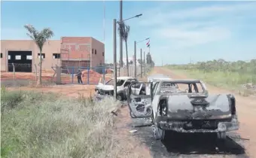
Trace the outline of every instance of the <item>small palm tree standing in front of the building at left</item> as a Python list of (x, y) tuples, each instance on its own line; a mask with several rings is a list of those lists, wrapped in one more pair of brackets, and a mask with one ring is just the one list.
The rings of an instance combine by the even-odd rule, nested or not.
[(44, 47), (44, 43), (53, 37), (53, 31), (50, 28), (44, 28), (43, 30), (41, 30), (41, 32), (38, 32), (38, 30), (35, 29), (34, 26), (32, 25), (26, 25), (24, 26), (25, 29), (28, 31), (27, 35), (32, 38), (33, 41), (35, 41), (35, 44), (38, 46), (39, 50), (40, 50), (40, 71), (39, 71), (39, 78), (38, 78), (38, 84), (41, 85), (41, 62), (42, 62), (42, 50)]

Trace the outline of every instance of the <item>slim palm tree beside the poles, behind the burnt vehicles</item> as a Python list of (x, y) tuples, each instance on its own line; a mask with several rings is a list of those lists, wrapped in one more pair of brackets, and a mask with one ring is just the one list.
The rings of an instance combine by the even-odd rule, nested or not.
[[(129, 61), (128, 61), (128, 47), (127, 47), (127, 40), (130, 33), (130, 26), (127, 26), (125, 23), (119, 23), (119, 34), (123, 41), (125, 41), (126, 47), (126, 68), (127, 68), (127, 75), (129, 76)], [(123, 61), (122, 61), (123, 62)]]

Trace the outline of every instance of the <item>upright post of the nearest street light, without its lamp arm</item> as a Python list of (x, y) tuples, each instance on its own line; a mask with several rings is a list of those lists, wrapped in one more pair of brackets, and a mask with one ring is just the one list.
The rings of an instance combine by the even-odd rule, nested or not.
[(114, 99), (117, 99), (117, 20), (113, 20), (114, 43)]

